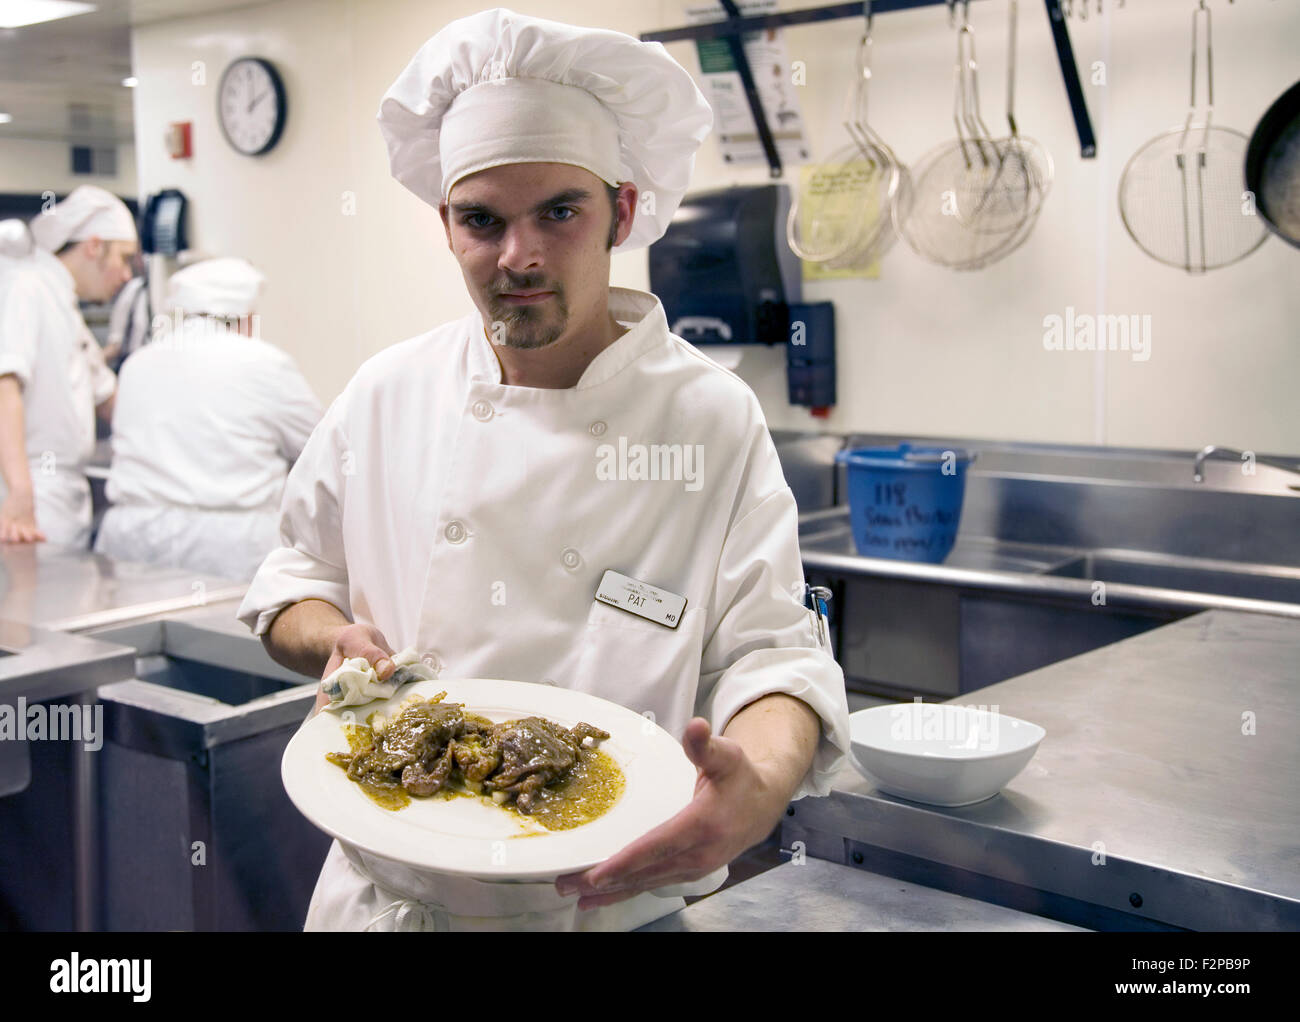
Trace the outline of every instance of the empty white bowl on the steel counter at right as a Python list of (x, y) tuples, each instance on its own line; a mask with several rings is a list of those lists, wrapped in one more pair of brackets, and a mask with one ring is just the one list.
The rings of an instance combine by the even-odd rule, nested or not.
[(939, 702), (872, 706), (849, 715), (858, 771), (880, 791), (935, 806), (997, 794), (1046, 731), (993, 707)]

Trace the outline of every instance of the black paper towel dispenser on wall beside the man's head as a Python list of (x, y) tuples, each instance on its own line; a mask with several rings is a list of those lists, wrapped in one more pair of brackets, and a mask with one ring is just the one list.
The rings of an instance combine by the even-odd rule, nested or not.
[(755, 185), (688, 195), (650, 246), (650, 290), (668, 329), (692, 343), (785, 342), (802, 299), (798, 257), (785, 243), (790, 194)]

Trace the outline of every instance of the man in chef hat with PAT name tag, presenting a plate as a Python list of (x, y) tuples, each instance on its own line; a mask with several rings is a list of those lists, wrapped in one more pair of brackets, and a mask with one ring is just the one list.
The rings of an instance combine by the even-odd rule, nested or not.
[[(612, 700), (699, 778), (677, 817), (554, 885), (476, 888), (335, 841), (307, 928), (630, 928), (828, 789), (844, 676), (758, 400), (654, 295), (608, 286), (611, 250), (666, 230), (711, 125), (658, 43), (502, 9), (448, 25), (384, 98), (393, 173), (439, 208), (478, 311), (360, 368), (239, 618), (304, 674), (365, 657), (386, 677), (416, 646), (443, 677)], [(611, 568), (685, 597), (677, 628), (595, 602)]]

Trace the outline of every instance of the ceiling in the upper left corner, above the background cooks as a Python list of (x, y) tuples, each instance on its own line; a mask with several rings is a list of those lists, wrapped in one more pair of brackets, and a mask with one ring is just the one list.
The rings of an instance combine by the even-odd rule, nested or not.
[(213, 10), (259, 7), (265, 0), (98, 0), (73, 18), (0, 29), (0, 125), (6, 138), (78, 144), (133, 140), (131, 26)]

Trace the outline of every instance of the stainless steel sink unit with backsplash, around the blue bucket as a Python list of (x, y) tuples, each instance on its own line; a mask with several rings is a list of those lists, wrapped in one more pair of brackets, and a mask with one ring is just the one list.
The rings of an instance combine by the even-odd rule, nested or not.
[[(835, 596), (853, 692), (952, 697), (1214, 607), (1300, 619), (1300, 491), (1265, 455), (1251, 475), (1240, 459), (1206, 460), (1196, 482), (1195, 451), (774, 439), (800, 504), (803, 573)], [(858, 554), (837, 442), (978, 451), (942, 564)]]

